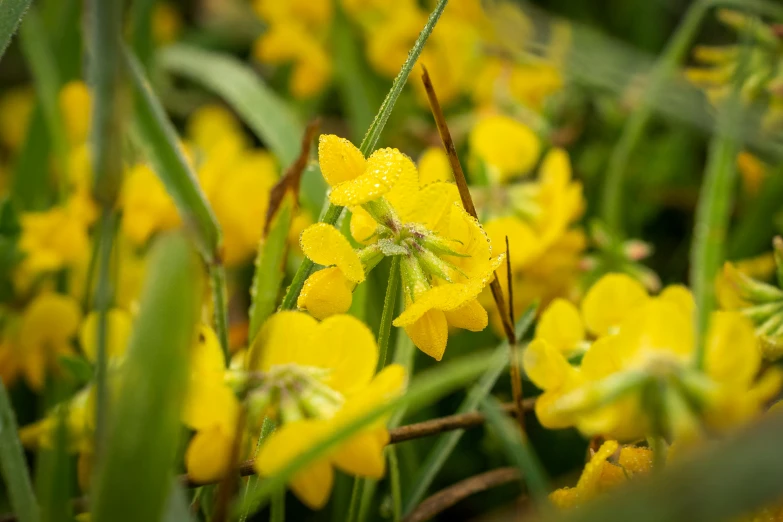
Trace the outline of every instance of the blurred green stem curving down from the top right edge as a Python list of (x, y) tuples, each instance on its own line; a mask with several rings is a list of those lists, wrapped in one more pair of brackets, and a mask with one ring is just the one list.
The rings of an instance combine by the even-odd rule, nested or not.
[(631, 154), (650, 120), (655, 99), (661, 94), (677, 64), (688, 52), (709, 5), (709, 0), (697, 1), (688, 9), (685, 18), (655, 65), (639, 105), (629, 116), (620, 139), (612, 150), (603, 187), (602, 216), (609, 230), (614, 234), (622, 234), (623, 181)]

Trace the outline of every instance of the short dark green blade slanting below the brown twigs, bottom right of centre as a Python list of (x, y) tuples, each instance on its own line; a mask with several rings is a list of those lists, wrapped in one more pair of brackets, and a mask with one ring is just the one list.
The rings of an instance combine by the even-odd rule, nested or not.
[(549, 503), (549, 479), (527, 437), (519, 429), (519, 424), (503, 413), (497, 399), (493, 397), (485, 398), (481, 409), (487, 416), (487, 423), (500, 438), (509, 460), (519, 469), (520, 476), (525, 478), (530, 494), (539, 507), (543, 508)]

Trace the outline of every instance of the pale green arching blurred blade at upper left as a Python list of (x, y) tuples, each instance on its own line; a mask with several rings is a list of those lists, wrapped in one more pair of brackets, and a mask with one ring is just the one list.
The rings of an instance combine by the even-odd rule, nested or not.
[(166, 70), (220, 95), (283, 165), (297, 158), (304, 125), (247, 65), (186, 44), (162, 49), (158, 59)]

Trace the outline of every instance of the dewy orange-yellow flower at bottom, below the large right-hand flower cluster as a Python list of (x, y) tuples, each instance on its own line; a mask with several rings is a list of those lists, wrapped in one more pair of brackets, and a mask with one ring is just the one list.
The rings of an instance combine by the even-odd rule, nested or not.
[[(611, 462), (616, 457), (617, 464)], [(585, 465), (579, 482), (573, 488), (560, 488), (549, 495), (549, 500), (560, 509), (572, 509), (593, 500), (638, 474), (652, 469), (652, 451), (648, 448), (623, 446), (617, 441), (604, 442)]]

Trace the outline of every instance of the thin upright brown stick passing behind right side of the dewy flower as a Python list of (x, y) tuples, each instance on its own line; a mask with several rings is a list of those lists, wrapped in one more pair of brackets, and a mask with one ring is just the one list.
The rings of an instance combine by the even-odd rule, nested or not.
[[(451, 164), (451, 170), (454, 173), (454, 181), (457, 183), (457, 189), (459, 190), (459, 197), (462, 200), (462, 206), (465, 207), (465, 210), (468, 212), (468, 214), (478, 220), (478, 213), (476, 212), (476, 207), (473, 204), (473, 198), (471, 197), (470, 190), (468, 189), (468, 181), (465, 178), (465, 172), (462, 170), (462, 165), (459, 162), (457, 149), (454, 146), (454, 140), (451, 139), (451, 132), (449, 132), (449, 127), (446, 124), (446, 117), (443, 115), (443, 109), (440, 107), (440, 102), (438, 101), (438, 96), (435, 94), (435, 88), (432, 86), (432, 80), (430, 79), (430, 75), (427, 72), (427, 68), (422, 65), (421, 69), (421, 81), (424, 83), (424, 90), (427, 92), (427, 99), (430, 102), (430, 110), (432, 111), (433, 118), (435, 118), (435, 125), (438, 127), (438, 133), (440, 134), (440, 139), (443, 142), (443, 148), (446, 149), (446, 155), (449, 158), (449, 164)], [(508, 238), (506, 238), (506, 255), (508, 255)], [(509, 263), (508, 259), (506, 260), (506, 263)], [(508, 277), (510, 301), (512, 295), (510, 264), (507, 264), (507, 267), (509, 268)], [(498, 313), (500, 314), (500, 321), (503, 324), (503, 331), (506, 334), (506, 339), (508, 339), (511, 392), (514, 396), (514, 403), (516, 403), (518, 407), (517, 419), (519, 421), (519, 429), (524, 433), (525, 424), (524, 415), (522, 415), (522, 412), (524, 411), (522, 408), (522, 376), (520, 375), (519, 364), (517, 361), (517, 336), (516, 332), (514, 331), (514, 317), (512, 315), (513, 312), (510, 312), (511, 306), (513, 305), (506, 307), (506, 301), (503, 298), (503, 289), (500, 287), (500, 279), (498, 278), (497, 271), (495, 271), (495, 277), (489, 284), (489, 289), (492, 291), (492, 298), (495, 300), (495, 305), (497, 306)]]

